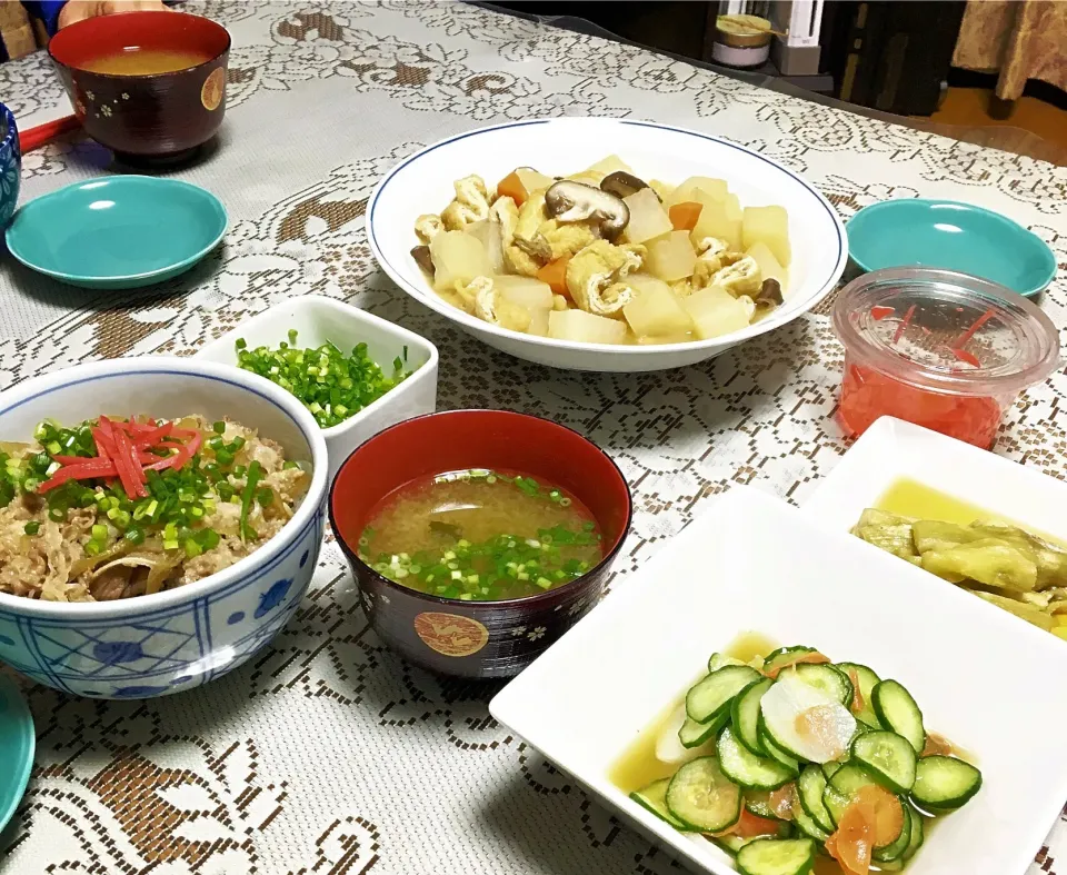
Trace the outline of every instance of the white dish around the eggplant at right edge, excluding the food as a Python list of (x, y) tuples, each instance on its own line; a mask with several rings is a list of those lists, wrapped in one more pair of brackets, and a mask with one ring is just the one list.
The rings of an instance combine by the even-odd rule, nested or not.
[[(874, 507), (901, 478), (1067, 540), (1067, 484), (889, 416), (868, 428), (819, 481), (804, 503), (804, 515), (825, 528), (849, 531), (864, 509)], [(929, 575), (927, 579), (935, 578)], [(986, 607), (1000, 610), (994, 605)]]

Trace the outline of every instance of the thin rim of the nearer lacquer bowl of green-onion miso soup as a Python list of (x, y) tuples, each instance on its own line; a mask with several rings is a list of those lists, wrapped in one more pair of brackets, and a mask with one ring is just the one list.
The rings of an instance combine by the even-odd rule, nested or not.
[[(350, 563), (352, 563), (353, 566), (359, 565), (360, 568), (365, 568), (369, 575), (377, 578), (378, 581), (381, 583), (387, 588), (399, 590), (400, 593), (405, 593), (407, 595), (413, 596), (417, 599), (426, 599), (431, 604), (441, 605), (441, 606), (463, 605), (467, 608), (470, 608), (470, 606), (473, 605), (475, 610), (479, 608), (485, 610), (490, 610), (490, 609), (496, 609), (500, 607), (513, 608), (520, 605), (537, 605), (537, 604), (540, 604), (541, 601), (550, 601), (554, 598), (558, 597), (559, 594), (565, 589), (580, 586), (582, 583), (588, 583), (589, 578), (592, 577), (592, 575), (602, 573), (612, 561), (615, 561), (615, 558), (619, 555), (619, 551), (622, 549), (622, 545), (626, 543), (626, 538), (630, 534), (630, 527), (634, 524), (634, 490), (630, 489), (630, 481), (626, 479), (626, 475), (622, 474), (622, 469), (618, 466), (616, 460), (612, 459), (601, 447), (598, 447), (585, 435), (582, 435), (579, 431), (576, 431), (574, 428), (570, 428), (570, 426), (565, 426), (552, 419), (546, 419), (542, 416), (534, 416), (531, 414), (520, 414), (518, 410), (491, 410), (486, 407), (465, 407), (460, 410), (435, 410), (432, 414), (422, 414), (421, 416), (415, 416), (411, 419), (405, 419), (402, 422), (396, 422), (389, 426), (389, 428), (382, 429), (373, 437), (368, 438), (365, 441), (365, 444), (368, 444), (371, 440), (377, 440), (378, 438), (383, 437), (385, 435), (388, 435), (390, 431), (397, 428), (400, 428), (400, 426), (405, 426), (408, 422), (415, 422), (419, 419), (429, 419), (430, 417), (436, 417), (436, 416), (455, 416), (456, 414), (507, 414), (508, 416), (520, 416), (527, 419), (540, 419), (545, 422), (549, 422), (554, 426), (557, 426), (558, 428), (564, 428), (567, 431), (570, 431), (571, 434), (576, 435), (581, 440), (584, 440), (586, 444), (588, 444), (590, 447), (592, 447), (595, 450), (597, 450), (597, 453), (604, 456), (604, 458), (608, 460), (608, 464), (611, 465), (612, 468), (615, 468), (615, 473), (619, 475), (619, 479), (622, 481), (622, 486), (626, 489), (626, 524), (622, 526), (622, 533), (619, 535), (618, 544), (616, 544), (615, 548), (611, 549), (610, 553), (608, 553), (602, 559), (600, 559), (600, 561), (598, 561), (595, 566), (592, 566), (592, 568), (586, 571), (581, 577), (576, 577), (574, 580), (568, 580), (566, 584), (564, 584), (562, 586), (556, 587), (555, 589), (546, 589), (544, 593), (536, 593), (531, 596), (518, 596), (517, 598), (499, 598), (492, 601), (472, 601), (472, 600), (465, 601), (461, 598), (446, 598), (445, 596), (436, 596), (432, 593), (423, 593), (421, 589), (413, 589), (409, 586), (403, 586), (402, 584), (398, 584), (396, 580), (390, 580), (383, 574), (376, 571), (367, 563), (360, 559), (358, 551), (353, 550), (349, 546), (348, 540), (341, 534), (341, 529), (338, 528), (337, 521), (333, 519), (333, 493), (337, 489), (337, 483), (340, 479), (341, 471), (352, 460), (352, 456), (355, 456), (357, 453), (359, 453), (360, 449), (362, 449), (362, 445), (361, 445), (359, 447), (356, 447), (356, 449), (353, 449), (351, 453), (348, 454), (348, 456), (345, 457), (345, 461), (342, 461), (338, 467), (337, 476), (333, 478), (333, 481), (330, 484), (330, 488), (326, 496), (326, 510), (330, 517), (330, 529), (333, 531), (333, 537), (337, 538), (337, 543), (341, 548), (341, 553), (345, 554), (345, 556), (348, 558)], [(355, 571), (353, 571), (353, 576), (355, 576)], [(359, 584), (358, 577), (356, 578), (356, 583), (357, 585)]]

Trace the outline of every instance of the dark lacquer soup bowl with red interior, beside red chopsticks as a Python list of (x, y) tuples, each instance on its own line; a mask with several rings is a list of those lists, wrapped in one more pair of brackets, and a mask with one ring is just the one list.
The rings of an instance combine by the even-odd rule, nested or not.
[[(153, 74), (86, 69), (138, 51), (167, 52), (188, 66)], [(86, 132), (120, 156), (177, 160), (222, 123), (230, 34), (209, 19), (167, 11), (97, 16), (59, 31), (48, 52)]]

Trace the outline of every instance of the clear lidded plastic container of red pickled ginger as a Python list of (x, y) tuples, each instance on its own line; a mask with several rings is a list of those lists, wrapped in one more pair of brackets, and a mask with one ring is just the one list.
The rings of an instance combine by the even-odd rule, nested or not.
[(1035, 304), (950, 270), (852, 280), (834, 330), (845, 345), (838, 417), (852, 435), (895, 416), (989, 448), (1004, 411), (1059, 365), (1059, 334)]

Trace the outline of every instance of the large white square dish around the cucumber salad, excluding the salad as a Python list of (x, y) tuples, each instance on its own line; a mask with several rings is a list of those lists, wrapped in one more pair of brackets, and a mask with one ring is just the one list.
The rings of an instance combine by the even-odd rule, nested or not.
[(1067, 647), (988, 607), (735, 487), (489, 709), (675, 856), (727, 875), (727, 854), (634, 803), (609, 769), (739, 634), (815, 646), (898, 679), (928, 727), (974, 752), (981, 768), (979, 794), (930, 831), (907, 872), (1023, 873), (1067, 798), (1059, 736), (1039, 729), (1067, 719), (1067, 697), (1050, 692), (1067, 672)]

